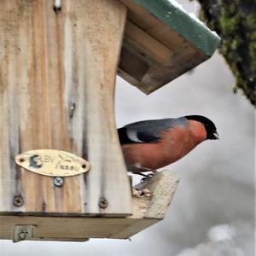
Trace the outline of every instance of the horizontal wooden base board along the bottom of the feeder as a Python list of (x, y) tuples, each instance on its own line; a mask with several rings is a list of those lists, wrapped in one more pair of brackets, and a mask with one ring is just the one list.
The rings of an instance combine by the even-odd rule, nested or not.
[[(81, 240), (84, 238), (129, 238), (158, 220), (133, 218), (71, 218), (0, 216), (1, 239), (13, 239), (15, 225), (35, 225), (35, 240)], [(131, 230), (124, 229), (132, 227)], [(115, 236), (117, 234), (117, 236)], [(32, 240), (33, 240), (32, 239)]]

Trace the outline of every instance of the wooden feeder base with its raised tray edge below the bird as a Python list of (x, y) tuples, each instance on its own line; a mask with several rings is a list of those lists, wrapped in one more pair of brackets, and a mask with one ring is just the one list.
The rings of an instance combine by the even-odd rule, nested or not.
[(9, 216), (0, 215), (0, 239), (12, 239), (15, 225), (34, 225), (32, 240), (84, 241), (86, 238), (126, 239), (162, 220), (172, 202), (179, 178), (164, 171), (140, 185), (150, 197), (132, 198), (132, 215), (126, 218), (82, 216)]

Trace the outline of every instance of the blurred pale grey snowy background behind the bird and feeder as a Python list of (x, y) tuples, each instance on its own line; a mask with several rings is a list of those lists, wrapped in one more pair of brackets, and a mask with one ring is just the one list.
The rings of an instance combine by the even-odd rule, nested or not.
[[(197, 3), (178, 1), (188, 12)], [(117, 125), (142, 119), (202, 114), (218, 127), (219, 141), (195, 148), (170, 169), (181, 183), (166, 218), (131, 241), (0, 241), (1, 256), (253, 256), (254, 113), (223, 58), (215, 54), (192, 73), (150, 96), (117, 79)]]

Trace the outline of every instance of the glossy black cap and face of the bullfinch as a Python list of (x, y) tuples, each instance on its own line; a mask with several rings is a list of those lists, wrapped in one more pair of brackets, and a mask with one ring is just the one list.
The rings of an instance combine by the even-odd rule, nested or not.
[(195, 121), (201, 122), (203, 125), (205, 125), (206, 131), (207, 131), (207, 139), (218, 140), (217, 128), (210, 119), (207, 119), (202, 115), (187, 115), (185, 116), (185, 118), (189, 120), (195, 120)]

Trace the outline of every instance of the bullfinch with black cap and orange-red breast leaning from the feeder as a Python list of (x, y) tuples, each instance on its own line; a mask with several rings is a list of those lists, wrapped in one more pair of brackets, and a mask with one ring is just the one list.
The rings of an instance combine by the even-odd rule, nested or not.
[(143, 172), (153, 176), (198, 144), (219, 138), (212, 120), (202, 115), (138, 121), (119, 128), (118, 136), (127, 171), (145, 177)]

